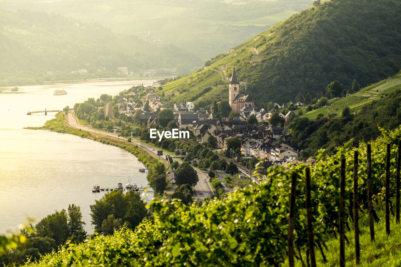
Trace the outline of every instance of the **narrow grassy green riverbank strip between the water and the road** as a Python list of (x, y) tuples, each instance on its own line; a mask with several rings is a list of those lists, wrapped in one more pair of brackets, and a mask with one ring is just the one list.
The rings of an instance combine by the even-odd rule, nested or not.
[(140, 148), (136, 144), (132, 144), (130, 142), (113, 137), (100, 136), (82, 129), (77, 130), (76, 128), (68, 126), (65, 123), (65, 115), (63, 112), (57, 113), (55, 115), (55, 118), (46, 121), (45, 125), (43, 125), (42, 127), (24, 127), (24, 129), (49, 130), (55, 131), (57, 133), (73, 134), (75, 136), (80, 136), (82, 138), (101, 142), (102, 144), (116, 146), (130, 152), (131, 154), (134, 154), (138, 158), (138, 160), (146, 166), (146, 168), (152, 168), (154, 164), (159, 162), (157, 158), (155, 158), (153, 155), (149, 154), (148, 152), (146, 152), (146, 150)]

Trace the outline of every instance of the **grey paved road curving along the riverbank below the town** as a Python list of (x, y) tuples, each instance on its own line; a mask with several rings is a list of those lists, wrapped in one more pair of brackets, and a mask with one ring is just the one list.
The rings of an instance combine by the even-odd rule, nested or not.
[[(109, 103), (109, 104), (111, 104), (111, 103)], [(109, 105), (109, 104), (107, 104), (107, 105)], [(106, 110), (107, 111), (111, 110), (110, 107), (107, 109), (107, 105), (106, 105)], [(123, 137), (118, 136), (117, 134), (108, 133), (108, 132), (105, 132), (105, 131), (99, 131), (99, 130), (93, 129), (93, 128), (87, 126), (87, 125), (79, 124), (77, 118), (74, 116), (74, 109), (70, 109), (68, 111), (68, 115), (67, 115), (67, 119), (66, 119), (65, 123), (67, 125), (71, 126), (71, 127), (76, 128), (76, 129), (89, 131), (89, 132), (93, 133), (96, 136), (96, 138), (99, 138), (99, 136), (104, 136), (104, 137), (113, 138), (113, 139), (117, 139), (117, 140), (124, 140)], [(157, 153), (156, 152), (157, 150), (154, 147), (152, 147), (152, 146), (150, 146), (148, 144), (144, 144), (144, 143), (136, 141), (134, 139), (132, 139), (131, 142), (134, 143), (134, 144), (137, 144), (138, 146), (140, 146), (140, 148), (146, 150), (151, 155), (154, 155), (154, 154)], [(157, 157), (157, 156), (155, 155), (155, 157)], [(162, 157), (159, 157), (159, 158), (163, 163), (167, 162), (165, 156), (162, 156)], [(182, 163), (182, 161), (177, 159), (177, 158), (173, 158), (173, 160)], [(207, 174), (202, 173), (200, 170), (198, 170), (196, 168), (195, 168), (195, 170), (196, 170), (196, 172), (197, 172), (197, 174), (199, 176), (199, 181), (194, 186), (194, 190), (195, 190), (194, 198), (198, 198), (199, 200), (202, 201), (203, 199), (205, 199), (205, 198), (207, 198), (209, 196), (212, 196), (213, 195), (213, 190), (212, 190), (212, 187), (210, 186), (210, 184), (208, 182), (209, 181), (209, 176), (207, 176)]]

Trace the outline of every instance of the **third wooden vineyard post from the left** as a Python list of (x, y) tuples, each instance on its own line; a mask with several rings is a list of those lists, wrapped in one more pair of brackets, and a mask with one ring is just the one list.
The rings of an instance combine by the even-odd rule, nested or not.
[(341, 159), (340, 175), (340, 267), (345, 267), (345, 243), (344, 243), (344, 207), (345, 207), (345, 158)]

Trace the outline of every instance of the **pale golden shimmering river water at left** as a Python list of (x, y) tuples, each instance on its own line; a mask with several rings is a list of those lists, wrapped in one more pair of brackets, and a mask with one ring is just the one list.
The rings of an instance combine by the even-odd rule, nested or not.
[[(104, 192), (93, 194), (93, 185), (116, 187), (128, 180), (147, 186), (143, 164), (134, 155), (114, 146), (70, 134), (22, 129), (42, 126), (55, 113), (26, 115), (29, 111), (73, 107), (103, 93), (117, 95), (132, 86), (154, 80), (97, 81), (19, 87), (24, 93), (0, 93), (0, 233), (16, 229), (33, 218), (33, 224), (69, 204), (81, 207), (85, 230), (93, 233), (89, 205)], [(53, 95), (65, 89), (67, 95)], [(0, 88), (2, 90), (2, 88)]]

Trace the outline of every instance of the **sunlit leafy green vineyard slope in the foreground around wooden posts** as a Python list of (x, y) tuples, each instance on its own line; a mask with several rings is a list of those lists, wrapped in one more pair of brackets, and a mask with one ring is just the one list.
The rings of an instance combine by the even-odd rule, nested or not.
[[(401, 129), (383, 132), (372, 147), (372, 193), (383, 194), (385, 183), (384, 162), (387, 143), (391, 144), (391, 158), (397, 154), (397, 141)], [(347, 144), (334, 156), (322, 153), (311, 167), (312, 227), (316, 242), (317, 266), (338, 265), (338, 207), (340, 162), (346, 160), (345, 195), (347, 201), (353, 191), (354, 148)], [(368, 237), (368, 212), (366, 205), (366, 144), (359, 148), (360, 203), (359, 224), (361, 227), (361, 266), (397, 266), (399, 263), (400, 227), (391, 221), (389, 237), (383, 227), (384, 200), (377, 197), (373, 202), (379, 223), (375, 223), (376, 242)], [(395, 163), (392, 161), (391, 196), (394, 196)], [(296, 220), (294, 246), (297, 263), (306, 259), (306, 208), (305, 208), (305, 168), (293, 166), (291, 171), (284, 166), (271, 168), (267, 172), (269, 182), (260, 186), (245, 187), (221, 199), (205, 200), (201, 205), (186, 206), (182, 202), (155, 200), (148, 208), (154, 220), (144, 221), (135, 232), (122, 229), (113, 236), (98, 236), (79, 245), (69, 245), (58, 253), (45, 255), (40, 262), (26, 266), (288, 266), (287, 236), (290, 176), (298, 174), (296, 191)], [(352, 212), (346, 204), (345, 222), (350, 226), (346, 235), (353, 235)], [(375, 214), (376, 214), (375, 213)], [(393, 217), (391, 217), (393, 219)], [(323, 240), (328, 240), (324, 249)], [(350, 238), (346, 245), (348, 264), (352, 263), (354, 247)], [(326, 241), (325, 241), (326, 242)], [(324, 263), (318, 246), (327, 255)], [(337, 248), (337, 249), (336, 249)], [(391, 252), (390, 252), (391, 251)]]

